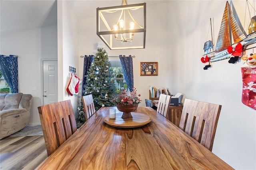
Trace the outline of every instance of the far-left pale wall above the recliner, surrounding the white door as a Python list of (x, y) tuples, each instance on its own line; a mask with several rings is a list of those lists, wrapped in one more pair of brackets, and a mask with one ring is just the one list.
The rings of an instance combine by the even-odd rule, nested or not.
[[(57, 25), (1, 35), (1, 54), (18, 55), (19, 92), (31, 94), (29, 125), (40, 125), (42, 105), (41, 59), (57, 58)], [(36, 87), (36, 91), (32, 91)]]

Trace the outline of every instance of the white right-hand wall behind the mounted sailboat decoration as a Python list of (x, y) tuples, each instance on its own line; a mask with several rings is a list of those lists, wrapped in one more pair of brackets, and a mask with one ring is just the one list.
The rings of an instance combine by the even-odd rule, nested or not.
[[(232, 2), (243, 24), (245, 1)], [(217, 36), (225, 4), (224, 0), (168, 2), (168, 38), (176, 40), (168, 42), (168, 84), (184, 98), (222, 105), (212, 152), (235, 169), (252, 170), (256, 169), (256, 111), (241, 102), (241, 67), (246, 65), (226, 59), (204, 70), (200, 61), (210, 18)]]

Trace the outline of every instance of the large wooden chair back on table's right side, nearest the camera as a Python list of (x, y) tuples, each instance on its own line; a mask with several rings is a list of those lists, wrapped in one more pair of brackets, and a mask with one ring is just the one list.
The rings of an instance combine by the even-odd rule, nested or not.
[(221, 105), (185, 99), (179, 127), (212, 151)]

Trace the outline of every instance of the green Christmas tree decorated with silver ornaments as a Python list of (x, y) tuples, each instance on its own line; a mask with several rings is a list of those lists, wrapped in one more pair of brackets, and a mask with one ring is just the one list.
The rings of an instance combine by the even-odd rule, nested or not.
[(112, 99), (116, 95), (116, 87), (112, 73), (113, 70), (110, 61), (108, 61), (106, 50), (102, 47), (98, 48), (86, 75), (87, 80), (84, 89), (86, 95), (92, 94), (96, 111), (104, 106), (114, 106)]

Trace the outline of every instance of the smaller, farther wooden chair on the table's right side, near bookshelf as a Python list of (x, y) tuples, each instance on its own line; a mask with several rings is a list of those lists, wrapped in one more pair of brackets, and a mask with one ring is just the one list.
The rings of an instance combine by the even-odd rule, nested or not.
[(170, 95), (160, 94), (156, 111), (161, 115), (163, 115), (164, 117), (166, 117), (168, 108), (170, 107), (170, 102), (171, 102)]

